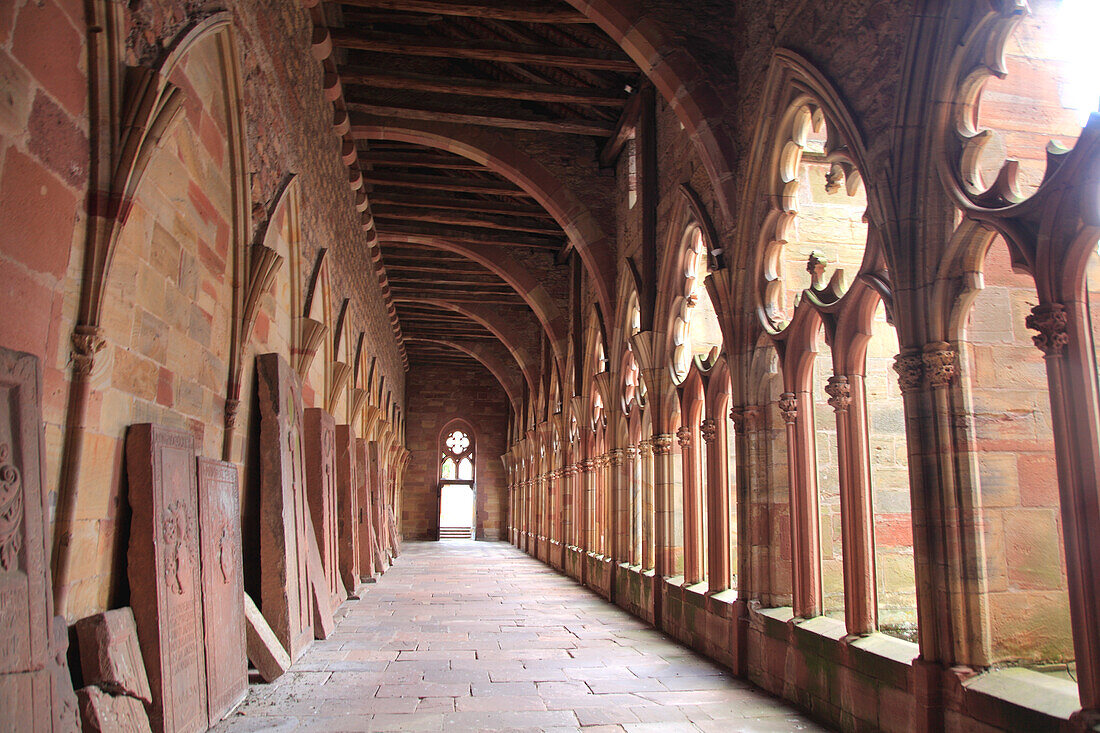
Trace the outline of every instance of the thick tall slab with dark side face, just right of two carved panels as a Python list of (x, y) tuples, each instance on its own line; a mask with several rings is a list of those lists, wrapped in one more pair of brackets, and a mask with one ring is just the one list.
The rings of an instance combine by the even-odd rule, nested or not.
[(306, 547), (301, 383), (277, 353), (256, 358), (260, 383), (260, 610), (295, 660), (314, 641)]

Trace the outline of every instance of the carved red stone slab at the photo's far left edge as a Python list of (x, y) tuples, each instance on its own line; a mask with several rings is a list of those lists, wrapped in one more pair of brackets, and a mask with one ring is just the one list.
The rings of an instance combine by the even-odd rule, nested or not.
[(35, 731), (53, 725), (38, 384), (37, 359), (0, 349), (0, 710)]

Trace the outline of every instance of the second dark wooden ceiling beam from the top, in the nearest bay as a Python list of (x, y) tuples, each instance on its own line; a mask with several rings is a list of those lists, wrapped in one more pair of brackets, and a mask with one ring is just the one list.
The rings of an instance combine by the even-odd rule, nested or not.
[(465, 58), (483, 62), (510, 62), (558, 66), (561, 68), (591, 68), (602, 72), (637, 74), (637, 65), (620, 54), (592, 48), (564, 48), (551, 45), (507, 43), (502, 41), (449, 41), (422, 39), (391, 33), (372, 33), (354, 29), (333, 29), (332, 42), (342, 48), (370, 51), (399, 56), (430, 56), (433, 58)]

